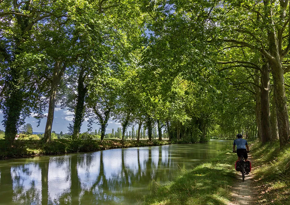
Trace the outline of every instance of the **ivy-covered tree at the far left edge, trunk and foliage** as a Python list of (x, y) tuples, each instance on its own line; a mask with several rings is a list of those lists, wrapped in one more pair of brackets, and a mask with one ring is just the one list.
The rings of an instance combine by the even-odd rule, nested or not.
[[(31, 111), (43, 109), (41, 93), (36, 90), (41, 74), (38, 69), (45, 58), (35, 47), (37, 36), (42, 33), (37, 28), (45, 26), (47, 21), (53, 22), (63, 17), (63, 9), (69, 1), (53, 5), (32, 1), (1, 2), (1, 108), (4, 114), (5, 139), (12, 144), (17, 128)], [(5, 69), (3, 69), (4, 67)], [(4, 71), (2, 73), (2, 71)], [(39, 74), (39, 75), (38, 75)], [(31, 81), (31, 82), (30, 82)], [(33, 94), (38, 93), (38, 95)], [(44, 103), (45, 104), (45, 103)]]

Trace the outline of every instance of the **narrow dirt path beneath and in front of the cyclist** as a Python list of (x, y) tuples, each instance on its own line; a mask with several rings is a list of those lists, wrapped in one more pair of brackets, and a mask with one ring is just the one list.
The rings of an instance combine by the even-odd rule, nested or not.
[[(248, 158), (252, 161), (251, 155)], [(253, 171), (253, 170), (252, 170)], [(237, 183), (232, 187), (232, 201), (229, 205), (252, 205), (253, 204), (253, 174), (245, 176), (245, 181), (242, 181), (242, 175), (237, 175)]]

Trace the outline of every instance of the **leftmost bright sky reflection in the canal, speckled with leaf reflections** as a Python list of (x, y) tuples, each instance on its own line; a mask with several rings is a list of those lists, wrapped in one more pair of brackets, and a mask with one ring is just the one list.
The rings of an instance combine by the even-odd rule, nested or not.
[(37, 163), (11, 166), (13, 200), (19, 204), (26, 202), (26, 195), (30, 194), (30, 202), (41, 201), (41, 169)]

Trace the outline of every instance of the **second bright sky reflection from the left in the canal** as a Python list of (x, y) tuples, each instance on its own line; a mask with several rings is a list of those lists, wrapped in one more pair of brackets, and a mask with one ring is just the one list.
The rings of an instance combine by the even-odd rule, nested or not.
[(50, 203), (59, 204), (60, 197), (70, 192), (69, 156), (51, 157), (48, 167), (48, 198)]

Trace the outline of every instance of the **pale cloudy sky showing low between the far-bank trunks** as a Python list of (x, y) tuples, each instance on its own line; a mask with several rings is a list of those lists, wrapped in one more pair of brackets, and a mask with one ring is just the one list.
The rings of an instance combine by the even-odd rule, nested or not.
[[(48, 110), (44, 112), (44, 114), (47, 114)], [(34, 114), (31, 113), (29, 117), (26, 118), (25, 124), (30, 123), (33, 128), (33, 132), (44, 132), (46, 120), (47, 118), (43, 118), (40, 122), (39, 127), (37, 127), (37, 119), (35, 119)], [(52, 131), (55, 131), (56, 133), (60, 133), (61, 131), (64, 133), (67, 132), (67, 127), (69, 126), (69, 123), (72, 123), (73, 119), (73, 113), (68, 111), (67, 109), (61, 109), (60, 104), (56, 105), (56, 108), (54, 109), (54, 118), (53, 118), (53, 125), (52, 125)], [(3, 120), (3, 113), (2, 110), (0, 110), (0, 122)], [(85, 119), (85, 121), (82, 123), (81, 132), (88, 131), (88, 119)], [(0, 123), (0, 130), (4, 130), (4, 126), (2, 125), (3, 122)], [(114, 129), (114, 132), (117, 131), (117, 128), (121, 127), (120, 122), (116, 122), (110, 118), (108, 121), (108, 126), (106, 129), (106, 133), (112, 133), (112, 129)], [(92, 131), (94, 132), (95, 129), (98, 131), (100, 128), (100, 125), (93, 124), (92, 125)], [(131, 128), (128, 128), (127, 131), (131, 131)], [(136, 130), (136, 126), (135, 126)]]

